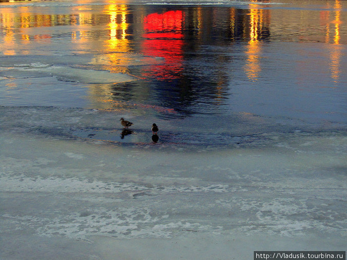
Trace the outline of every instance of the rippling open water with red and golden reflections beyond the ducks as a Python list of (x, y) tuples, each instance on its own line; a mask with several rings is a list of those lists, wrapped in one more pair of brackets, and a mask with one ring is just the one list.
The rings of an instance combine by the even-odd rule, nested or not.
[(346, 126), (346, 1), (165, 2), (0, 3), (3, 109)]

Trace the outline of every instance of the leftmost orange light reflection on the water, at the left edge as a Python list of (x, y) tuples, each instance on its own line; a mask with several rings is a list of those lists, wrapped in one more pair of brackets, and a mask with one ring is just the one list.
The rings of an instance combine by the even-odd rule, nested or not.
[[(8, 9), (8, 10), (7, 10)], [(3, 50), (2, 53), (4, 55), (15, 55), (16, 52), (16, 46), (15, 46), (15, 39), (14, 39), (14, 14), (11, 13), (10, 8), (4, 8), (4, 12), (1, 13), (1, 23), (3, 24)], [(1, 48), (2, 49), (2, 48)]]

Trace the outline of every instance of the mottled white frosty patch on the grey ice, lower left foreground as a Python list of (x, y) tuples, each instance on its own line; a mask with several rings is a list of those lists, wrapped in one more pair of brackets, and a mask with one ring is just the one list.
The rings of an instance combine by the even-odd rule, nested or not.
[(117, 238), (170, 238), (178, 231), (209, 230), (222, 231), (221, 226), (199, 222), (170, 220), (168, 215), (153, 216), (150, 208), (118, 207), (116, 209), (94, 208), (83, 212), (62, 214), (54, 218), (29, 215), (0, 215), (9, 225), (24, 229), (35, 228), (40, 236), (65, 236), (86, 239), (90, 235), (113, 236)]

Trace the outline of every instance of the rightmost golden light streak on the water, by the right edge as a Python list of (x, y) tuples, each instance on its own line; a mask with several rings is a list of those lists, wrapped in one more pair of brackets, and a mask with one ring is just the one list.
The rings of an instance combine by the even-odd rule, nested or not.
[(330, 54), (330, 70), (331, 70), (331, 78), (333, 79), (334, 83), (338, 83), (338, 80), (340, 78), (340, 58), (341, 58), (341, 48), (339, 46), (340, 43), (340, 15), (341, 15), (341, 2), (340, 0), (335, 1), (334, 8), (337, 10), (335, 11), (335, 35), (334, 35), (334, 44), (333, 44), (333, 51)]

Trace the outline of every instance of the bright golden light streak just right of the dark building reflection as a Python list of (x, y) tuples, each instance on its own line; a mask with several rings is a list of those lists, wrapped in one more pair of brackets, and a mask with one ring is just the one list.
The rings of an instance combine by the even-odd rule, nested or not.
[(259, 32), (258, 32), (258, 24), (261, 20), (262, 12), (258, 9), (250, 9), (250, 40), (247, 46), (247, 64), (245, 66), (245, 72), (247, 77), (256, 81), (260, 72), (260, 64), (259, 64), (259, 55), (260, 46), (259, 46)]

